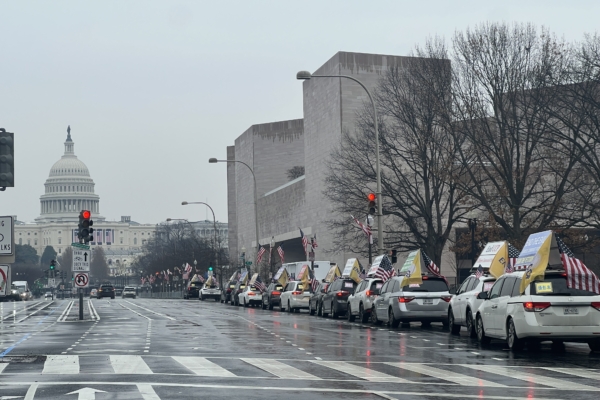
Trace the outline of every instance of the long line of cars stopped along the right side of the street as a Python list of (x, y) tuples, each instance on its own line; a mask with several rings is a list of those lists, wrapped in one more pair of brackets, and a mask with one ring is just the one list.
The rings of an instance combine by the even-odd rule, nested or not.
[(290, 313), (305, 309), (310, 315), (385, 323), (393, 328), (411, 322), (423, 326), (441, 322), (452, 334), (465, 327), (482, 345), (503, 340), (515, 351), (526, 344), (536, 348), (544, 341), (558, 346), (583, 342), (592, 351), (600, 351), (600, 295), (568, 288), (561, 270), (548, 270), (543, 280), (532, 282), (521, 294), (525, 273), (513, 272), (499, 279), (473, 273), (454, 295), (446, 280), (435, 275), (423, 275), (421, 284), (409, 285), (403, 284), (403, 276), (386, 282), (367, 278), (358, 284), (339, 278), (319, 283), (314, 291), (298, 281), (285, 286), (271, 283), (264, 292), (230, 281), (220, 293), (220, 301), (263, 310), (278, 307)]

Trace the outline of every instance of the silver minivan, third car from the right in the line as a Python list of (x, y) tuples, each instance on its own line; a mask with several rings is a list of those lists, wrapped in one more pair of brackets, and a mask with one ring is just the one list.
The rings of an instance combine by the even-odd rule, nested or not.
[(411, 321), (421, 322), (423, 326), (432, 322), (448, 326), (448, 303), (452, 296), (446, 280), (425, 275), (421, 284), (404, 285), (404, 279), (397, 276), (384, 283), (373, 304), (372, 321), (387, 322), (393, 328)]

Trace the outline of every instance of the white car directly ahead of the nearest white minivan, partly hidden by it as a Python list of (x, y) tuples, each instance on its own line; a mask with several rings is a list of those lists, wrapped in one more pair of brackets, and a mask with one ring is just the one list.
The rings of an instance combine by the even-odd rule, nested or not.
[(477, 278), (473, 274), (460, 285), (448, 307), (448, 323), (453, 334), (458, 334), (460, 328), (466, 326), (471, 337), (477, 336), (474, 315), (483, 303), (483, 300), (478, 299), (477, 295), (490, 290), (494, 282), (496, 282), (496, 278), (492, 275), (484, 274)]

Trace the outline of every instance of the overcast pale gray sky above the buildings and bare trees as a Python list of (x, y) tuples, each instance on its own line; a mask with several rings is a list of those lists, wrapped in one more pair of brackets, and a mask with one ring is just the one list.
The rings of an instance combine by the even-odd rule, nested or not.
[(1, 215), (31, 221), (67, 125), (108, 219), (227, 220), (226, 146), (253, 124), (302, 117), (298, 70), (337, 51), (406, 55), (485, 21), (568, 40), (600, 1), (0, 1), (0, 127), (16, 187)]

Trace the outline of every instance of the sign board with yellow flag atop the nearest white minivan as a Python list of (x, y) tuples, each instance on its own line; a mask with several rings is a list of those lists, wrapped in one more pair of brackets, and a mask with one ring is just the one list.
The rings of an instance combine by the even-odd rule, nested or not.
[(521, 293), (538, 276), (544, 276), (548, 260), (550, 259), (550, 246), (554, 238), (552, 231), (539, 232), (529, 235), (527, 242), (515, 264), (515, 270), (525, 270), (521, 278)]

